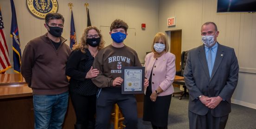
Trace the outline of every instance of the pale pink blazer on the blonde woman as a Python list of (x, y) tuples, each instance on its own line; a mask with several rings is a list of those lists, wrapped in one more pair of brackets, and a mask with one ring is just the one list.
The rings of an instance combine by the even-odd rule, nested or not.
[(159, 96), (173, 94), (173, 81), (176, 74), (175, 55), (164, 53), (160, 58), (154, 59), (154, 53), (148, 53), (145, 58), (145, 77), (149, 79), (152, 72), (152, 92), (160, 86), (164, 90)]

